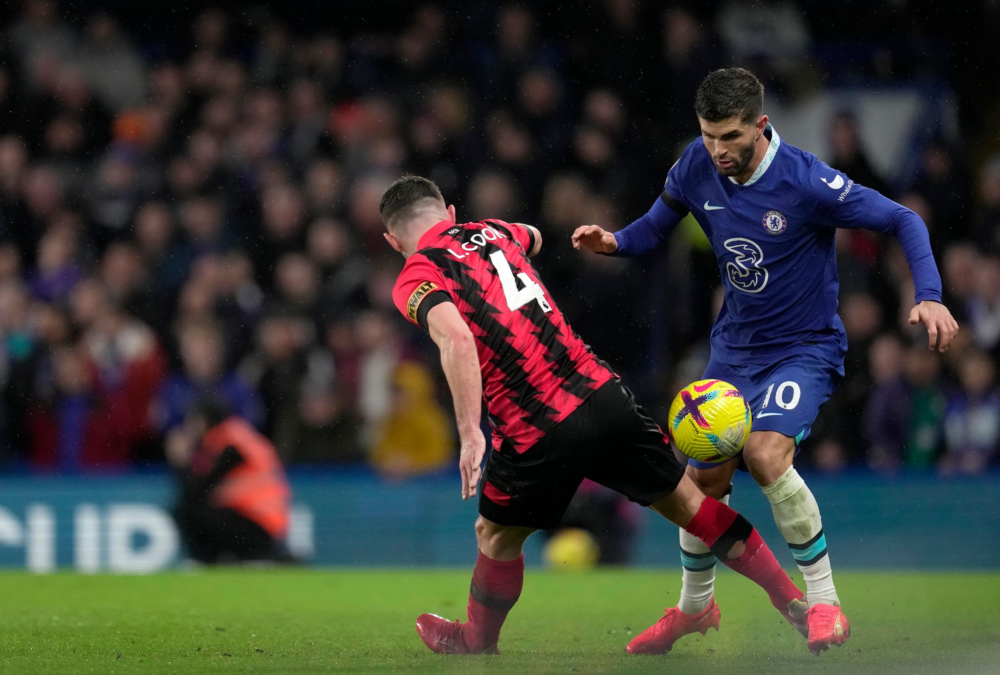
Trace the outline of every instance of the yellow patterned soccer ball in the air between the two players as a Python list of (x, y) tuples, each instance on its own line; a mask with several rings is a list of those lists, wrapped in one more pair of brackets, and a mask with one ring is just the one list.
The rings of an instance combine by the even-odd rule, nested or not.
[(680, 451), (702, 462), (729, 459), (750, 435), (750, 406), (722, 380), (699, 380), (681, 389), (669, 420), (670, 438)]

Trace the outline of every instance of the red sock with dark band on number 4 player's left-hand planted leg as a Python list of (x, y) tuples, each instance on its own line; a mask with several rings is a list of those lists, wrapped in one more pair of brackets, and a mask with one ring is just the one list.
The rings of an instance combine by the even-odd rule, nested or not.
[(495, 647), (500, 627), (524, 583), (524, 555), (500, 562), (480, 552), (472, 570), (469, 588), (469, 622), (462, 629), (466, 643), (475, 651)]

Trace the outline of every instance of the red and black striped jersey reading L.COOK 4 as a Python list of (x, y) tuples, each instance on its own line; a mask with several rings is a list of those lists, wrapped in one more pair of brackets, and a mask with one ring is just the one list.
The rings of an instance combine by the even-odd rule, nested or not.
[(393, 299), (426, 326), (430, 307), (454, 302), (476, 339), (493, 447), (524, 452), (614, 372), (573, 332), (528, 260), (524, 225), (441, 221), (406, 260)]

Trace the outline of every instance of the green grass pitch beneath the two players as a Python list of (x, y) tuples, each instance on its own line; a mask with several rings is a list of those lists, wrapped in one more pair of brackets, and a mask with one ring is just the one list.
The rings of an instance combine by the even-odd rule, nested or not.
[(847, 645), (814, 657), (724, 570), (722, 630), (666, 656), (625, 644), (676, 603), (676, 569), (528, 571), (500, 656), (439, 656), (424, 611), (465, 618), (471, 570), (0, 575), (0, 672), (1000, 673), (1000, 574), (838, 573)]

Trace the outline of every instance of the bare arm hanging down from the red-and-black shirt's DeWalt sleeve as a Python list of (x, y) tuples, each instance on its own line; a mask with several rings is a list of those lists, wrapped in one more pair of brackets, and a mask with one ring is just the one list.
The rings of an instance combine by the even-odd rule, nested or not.
[(483, 381), (479, 355), (472, 331), (454, 303), (441, 302), (427, 313), (427, 330), (441, 350), (441, 366), (455, 403), (455, 421), (461, 452), (458, 468), (462, 473), (462, 499), (476, 495), (480, 464), (486, 453), (486, 439), (479, 428)]

